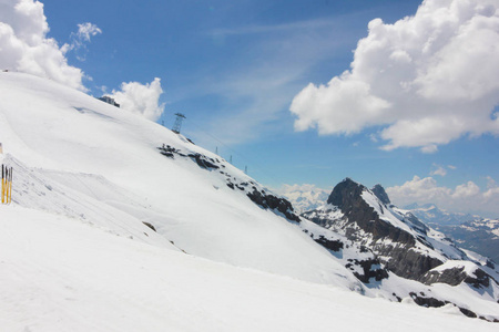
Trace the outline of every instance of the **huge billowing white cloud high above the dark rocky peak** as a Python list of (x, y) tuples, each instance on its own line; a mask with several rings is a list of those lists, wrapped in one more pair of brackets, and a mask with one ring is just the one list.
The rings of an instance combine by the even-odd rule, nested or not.
[(293, 100), (295, 129), (354, 134), (380, 126), (384, 149), (499, 134), (499, 2), (425, 0), (394, 24), (375, 19), (350, 70)]

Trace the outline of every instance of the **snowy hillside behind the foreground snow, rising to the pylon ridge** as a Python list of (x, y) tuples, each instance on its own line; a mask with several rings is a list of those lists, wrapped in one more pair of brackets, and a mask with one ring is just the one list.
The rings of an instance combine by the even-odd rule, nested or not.
[(0, 73), (0, 142), (14, 167), (16, 204), (238, 267), (361, 288), (281, 211), (254, 204), (247, 194), (262, 186), (217, 155), (47, 80)]

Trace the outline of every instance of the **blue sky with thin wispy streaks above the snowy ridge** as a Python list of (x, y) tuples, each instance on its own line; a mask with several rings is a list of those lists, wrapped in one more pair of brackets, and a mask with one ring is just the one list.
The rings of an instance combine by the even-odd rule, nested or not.
[[(389, 194), (396, 196), (398, 204), (425, 203), (424, 190), (430, 190), (436, 203), (444, 207), (499, 216), (495, 127), (477, 129), (481, 125), (477, 124), (444, 137), (436, 135), (434, 141), (408, 142), (400, 134), (384, 134), (390, 124), (397, 121), (407, 124), (413, 118), (397, 117), (390, 111), (386, 121), (377, 117), (369, 123), (360, 122), (348, 132), (348, 123), (356, 120), (345, 120), (343, 126), (332, 125), (340, 117), (332, 117), (327, 110), (320, 108), (330, 98), (320, 100), (314, 94), (333, 77), (338, 77), (340, 84), (357, 82), (364, 74), (361, 65), (353, 70), (350, 63), (357, 43), (370, 33), (368, 23), (380, 18), (385, 24), (391, 24), (415, 15), (421, 1), (42, 2), (50, 27), (47, 38), (53, 38), (60, 45), (72, 42), (78, 24), (90, 22), (100, 29), (101, 33), (92, 35), (83, 46), (65, 53), (70, 65), (91, 77), (83, 80), (89, 93), (101, 95), (119, 90), (122, 82), (146, 84), (160, 77), (164, 91), (160, 104), (164, 104), (164, 113), (157, 122), (171, 127), (173, 114), (184, 113), (187, 118), (183, 134), (213, 152), (217, 148), (226, 159), (232, 155), (237, 167), (247, 166), (249, 175), (266, 186), (313, 184), (332, 189), (343, 178), (352, 177), (369, 187), (380, 183), (394, 188)], [(369, 27), (374, 35), (375, 27)], [(421, 31), (427, 32), (422, 28)], [(359, 63), (366, 59), (360, 51), (355, 54)], [(376, 54), (371, 68), (376, 68), (375, 61)], [(459, 61), (455, 63), (459, 65)], [(340, 77), (345, 71), (357, 79)], [(476, 74), (469, 81), (480, 82), (480, 77)], [(440, 79), (431, 76), (428, 82), (438, 83)], [(314, 85), (307, 94), (304, 89), (309, 83)], [(371, 89), (379, 90), (373, 83)], [(498, 91), (496, 85), (490, 89), (490, 93)], [(304, 95), (305, 102), (292, 113), (289, 108), (298, 94)], [(388, 94), (380, 91), (377, 96), (383, 95), (390, 105), (405, 105), (389, 100)], [(490, 105), (495, 101), (489, 97), (483, 103)], [(313, 115), (308, 112), (312, 108), (317, 108)], [(447, 108), (441, 112), (449, 113)], [(493, 120), (493, 112), (487, 112)], [(306, 124), (299, 131), (295, 126), (298, 118)], [(319, 134), (323, 124), (326, 129)], [(390, 142), (395, 147), (383, 149)], [(421, 152), (425, 148), (426, 153)], [(415, 176), (434, 183), (417, 186)], [(470, 191), (452, 203), (461, 185), (467, 185)], [(413, 191), (409, 195), (404, 189)], [(491, 201), (480, 204), (478, 195), (490, 189), (493, 189), (489, 195)], [(466, 207), (465, 196), (470, 198)]]

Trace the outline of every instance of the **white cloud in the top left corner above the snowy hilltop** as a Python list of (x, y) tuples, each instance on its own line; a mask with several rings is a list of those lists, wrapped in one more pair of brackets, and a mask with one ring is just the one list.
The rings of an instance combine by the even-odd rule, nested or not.
[(43, 4), (33, 0), (0, 0), (0, 68), (48, 77), (82, 91), (83, 72), (68, 64), (68, 45), (47, 38)]

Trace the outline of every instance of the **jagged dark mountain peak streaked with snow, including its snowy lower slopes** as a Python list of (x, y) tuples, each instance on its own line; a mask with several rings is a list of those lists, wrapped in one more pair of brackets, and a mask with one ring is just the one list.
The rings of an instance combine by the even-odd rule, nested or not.
[[(396, 298), (403, 297), (394, 284), (405, 283), (405, 291), (409, 291), (420, 305), (440, 307), (452, 302), (462, 313), (476, 317), (470, 312), (480, 311), (481, 307), (467, 307), (469, 289), (475, 291), (475, 299), (496, 305), (499, 270), (490, 261), (477, 260), (475, 255), (457, 248), (445, 235), (421, 222), (410, 211), (386, 204), (389, 198), (381, 189), (378, 186), (369, 190), (346, 178), (335, 186), (327, 205), (305, 212), (303, 217), (371, 252), (370, 261), (378, 261), (388, 271), (378, 274), (380, 278), (376, 280), (381, 282), (384, 291), (397, 294)], [(373, 280), (364, 279), (363, 282), (369, 286)], [(459, 287), (456, 290), (459, 295), (449, 295), (441, 287), (444, 283)], [(425, 292), (418, 292), (418, 289), (425, 289)], [(483, 298), (483, 291), (490, 297)]]

